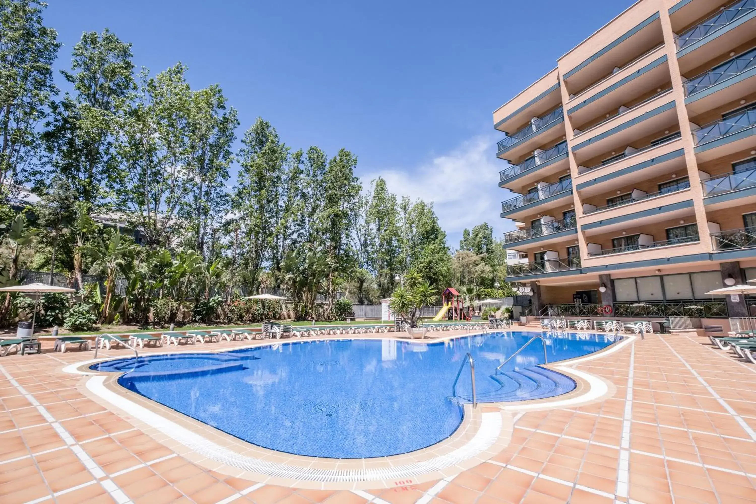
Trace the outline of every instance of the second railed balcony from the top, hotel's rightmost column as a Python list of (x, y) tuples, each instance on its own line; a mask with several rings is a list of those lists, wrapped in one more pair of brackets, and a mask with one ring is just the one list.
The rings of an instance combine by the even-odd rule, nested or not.
[(691, 116), (714, 110), (756, 87), (756, 48), (714, 66), (684, 84)]

